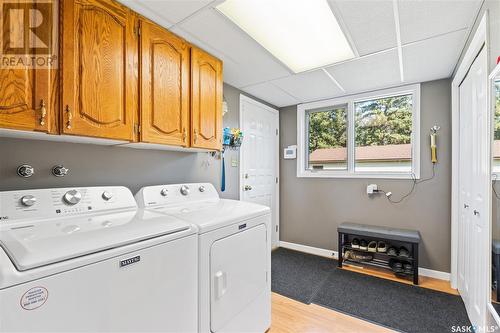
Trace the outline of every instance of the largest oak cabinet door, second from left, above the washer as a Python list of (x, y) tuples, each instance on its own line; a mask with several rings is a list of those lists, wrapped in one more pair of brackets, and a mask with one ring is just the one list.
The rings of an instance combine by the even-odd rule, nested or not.
[(136, 16), (110, 0), (61, 3), (61, 132), (133, 140), (138, 108)]

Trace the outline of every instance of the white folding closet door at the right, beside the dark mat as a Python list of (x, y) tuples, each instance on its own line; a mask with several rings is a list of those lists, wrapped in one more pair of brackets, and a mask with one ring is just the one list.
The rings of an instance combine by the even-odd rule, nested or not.
[(460, 85), (460, 221), (458, 290), (473, 325), (484, 325), (487, 304), (490, 130), (486, 50)]

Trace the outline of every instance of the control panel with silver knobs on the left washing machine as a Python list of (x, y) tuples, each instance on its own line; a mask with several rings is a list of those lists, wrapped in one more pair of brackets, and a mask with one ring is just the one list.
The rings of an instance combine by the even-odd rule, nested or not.
[(0, 224), (136, 207), (132, 192), (122, 186), (0, 192)]

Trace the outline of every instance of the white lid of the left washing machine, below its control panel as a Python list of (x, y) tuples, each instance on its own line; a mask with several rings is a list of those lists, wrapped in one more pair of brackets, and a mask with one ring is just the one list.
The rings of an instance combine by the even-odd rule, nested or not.
[(134, 209), (3, 226), (0, 246), (25, 271), (190, 228), (177, 218)]

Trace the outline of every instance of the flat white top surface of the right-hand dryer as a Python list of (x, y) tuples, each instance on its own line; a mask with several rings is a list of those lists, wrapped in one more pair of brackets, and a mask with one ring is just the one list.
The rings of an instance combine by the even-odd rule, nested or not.
[(195, 224), (199, 227), (200, 233), (241, 223), (271, 212), (267, 206), (218, 198), (175, 206), (156, 206), (151, 209)]

